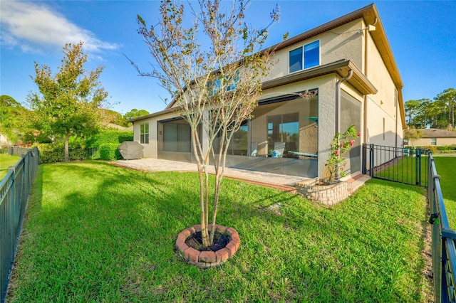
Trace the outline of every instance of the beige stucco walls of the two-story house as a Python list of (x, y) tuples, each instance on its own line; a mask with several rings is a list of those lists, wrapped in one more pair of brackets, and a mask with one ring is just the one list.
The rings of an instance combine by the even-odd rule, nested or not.
[[(361, 102), (361, 143), (373, 143), (387, 146), (402, 146), (402, 124), (399, 107), (397, 103), (397, 93), (395, 85), (378, 49), (373, 43), (371, 33), (358, 30), (366, 25), (362, 19), (352, 21), (333, 30), (322, 33), (301, 43), (296, 43), (288, 48), (281, 49), (274, 56), (274, 67), (268, 78), (281, 78), (289, 75), (289, 51), (307, 43), (320, 41), (320, 64), (324, 65), (341, 59), (351, 60), (360, 70), (367, 71), (367, 78), (378, 90), (375, 95), (361, 95), (348, 83), (341, 84), (341, 89), (348, 92), (356, 100)], [(367, 56), (365, 51), (367, 50)], [(324, 164), (328, 159), (329, 144), (331, 144), (335, 134), (335, 106), (336, 106), (336, 81), (339, 77), (336, 74), (325, 75), (311, 80), (301, 81), (274, 87), (264, 91), (263, 98), (271, 98), (285, 95), (290, 92), (301, 92), (306, 89), (318, 89), (318, 117), (321, 123), (318, 124), (318, 176), (322, 177), (325, 171)], [(261, 98), (260, 98), (261, 99)], [(169, 119), (175, 114), (167, 114), (160, 117)], [(266, 119), (266, 116), (263, 117)], [(135, 141), (140, 141), (140, 123), (150, 123), (150, 143), (145, 144), (145, 157), (157, 157), (157, 147), (161, 140), (160, 129), (157, 129), (157, 117), (144, 121), (135, 122)], [(324, 121), (324, 122), (322, 122)], [(300, 123), (301, 124), (301, 123)], [(252, 142), (259, 142), (259, 154), (266, 154), (266, 121), (252, 121)], [(303, 136), (311, 136), (310, 129)], [(255, 137), (257, 136), (257, 137)], [(366, 138), (364, 142), (363, 138)], [(301, 140), (302, 139), (302, 140)], [(300, 141), (304, 142), (304, 137)], [(203, 140), (204, 142), (204, 140)], [(438, 142), (438, 139), (437, 139)], [(207, 147), (205, 147), (207, 148)], [(314, 151), (308, 151), (313, 153)]]

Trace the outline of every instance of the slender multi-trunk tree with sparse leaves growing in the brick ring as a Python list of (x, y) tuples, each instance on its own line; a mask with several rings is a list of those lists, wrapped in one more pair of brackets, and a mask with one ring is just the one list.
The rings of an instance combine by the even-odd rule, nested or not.
[[(176, 112), (190, 124), (192, 146), (197, 161), (203, 245), (214, 240), (219, 191), (229, 142), (242, 122), (251, 117), (261, 94), (261, 79), (271, 68), (271, 51), (258, 50), (267, 38), (263, 30), (249, 29), (243, 22), (247, 3), (233, 2), (226, 13), (220, 0), (199, 0), (199, 14), (192, 26), (183, 25), (182, 4), (163, 1), (160, 19), (148, 28), (138, 15), (138, 32), (155, 59), (157, 68), (138, 73), (160, 80), (173, 97)], [(278, 19), (278, 8), (271, 14)], [(269, 23), (269, 25), (271, 25)], [(209, 48), (199, 44), (199, 31)], [(202, 147), (201, 125), (209, 143)], [(217, 146), (215, 146), (217, 144)], [(215, 152), (218, 151), (218, 152)], [(209, 194), (209, 160), (214, 162), (214, 192)], [(209, 224), (209, 200), (212, 201), (212, 228)]]

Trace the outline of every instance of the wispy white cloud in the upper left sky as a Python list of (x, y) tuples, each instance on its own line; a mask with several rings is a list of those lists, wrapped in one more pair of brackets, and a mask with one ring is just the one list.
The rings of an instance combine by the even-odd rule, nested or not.
[(4, 46), (20, 46), (24, 51), (40, 51), (38, 48), (61, 49), (65, 43), (83, 41), (89, 52), (114, 50), (115, 43), (100, 41), (95, 35), (80, 28), (49, 6), (24, 1), (1, 1), (0, 43)]

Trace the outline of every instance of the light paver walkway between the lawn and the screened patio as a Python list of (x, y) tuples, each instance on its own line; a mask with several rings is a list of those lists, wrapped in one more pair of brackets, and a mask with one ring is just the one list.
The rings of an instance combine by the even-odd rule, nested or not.
[[(197, 164), (153, 158), (118, 160), (113, 162), (113, 164), (138, 171), (197, 171)], [(209, 173), (214, 174), (213, 166), (209, 168)], [(254, 184), (279, 188), (285, 191), (295, 191), (294, 185), (296, 183), (309, 179), (301, 176), (287, 176), (265, 173), (263, 171), (247, 171), (245, 169), (232, 168), (225, 168), (224, 176), (248, 181)], [(368, 179), (368, 176), (362, 175), (361, 178), (349, 181), (351, 192), (356, 191), (356, 189)]]

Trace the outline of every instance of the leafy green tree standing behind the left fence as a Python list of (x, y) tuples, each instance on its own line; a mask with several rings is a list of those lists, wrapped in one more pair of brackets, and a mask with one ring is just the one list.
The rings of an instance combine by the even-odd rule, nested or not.
[(63, 138), (65, 161), (68, 161), (70, 136), (86, 136), (98, 130), (101, 122), (100, 108), (108, 93), (100, 85), (103, 67), (87, 72), (84, 64), (87, 55), (83, 43), (67, 43), (63, 47), (63, 59), (56, 75), (47, 65), (35, 63), (33, 82), (38, 93), (28, 95), (31, 109), (35, 112), (34, 124), (40, 132), (50, 137)]

